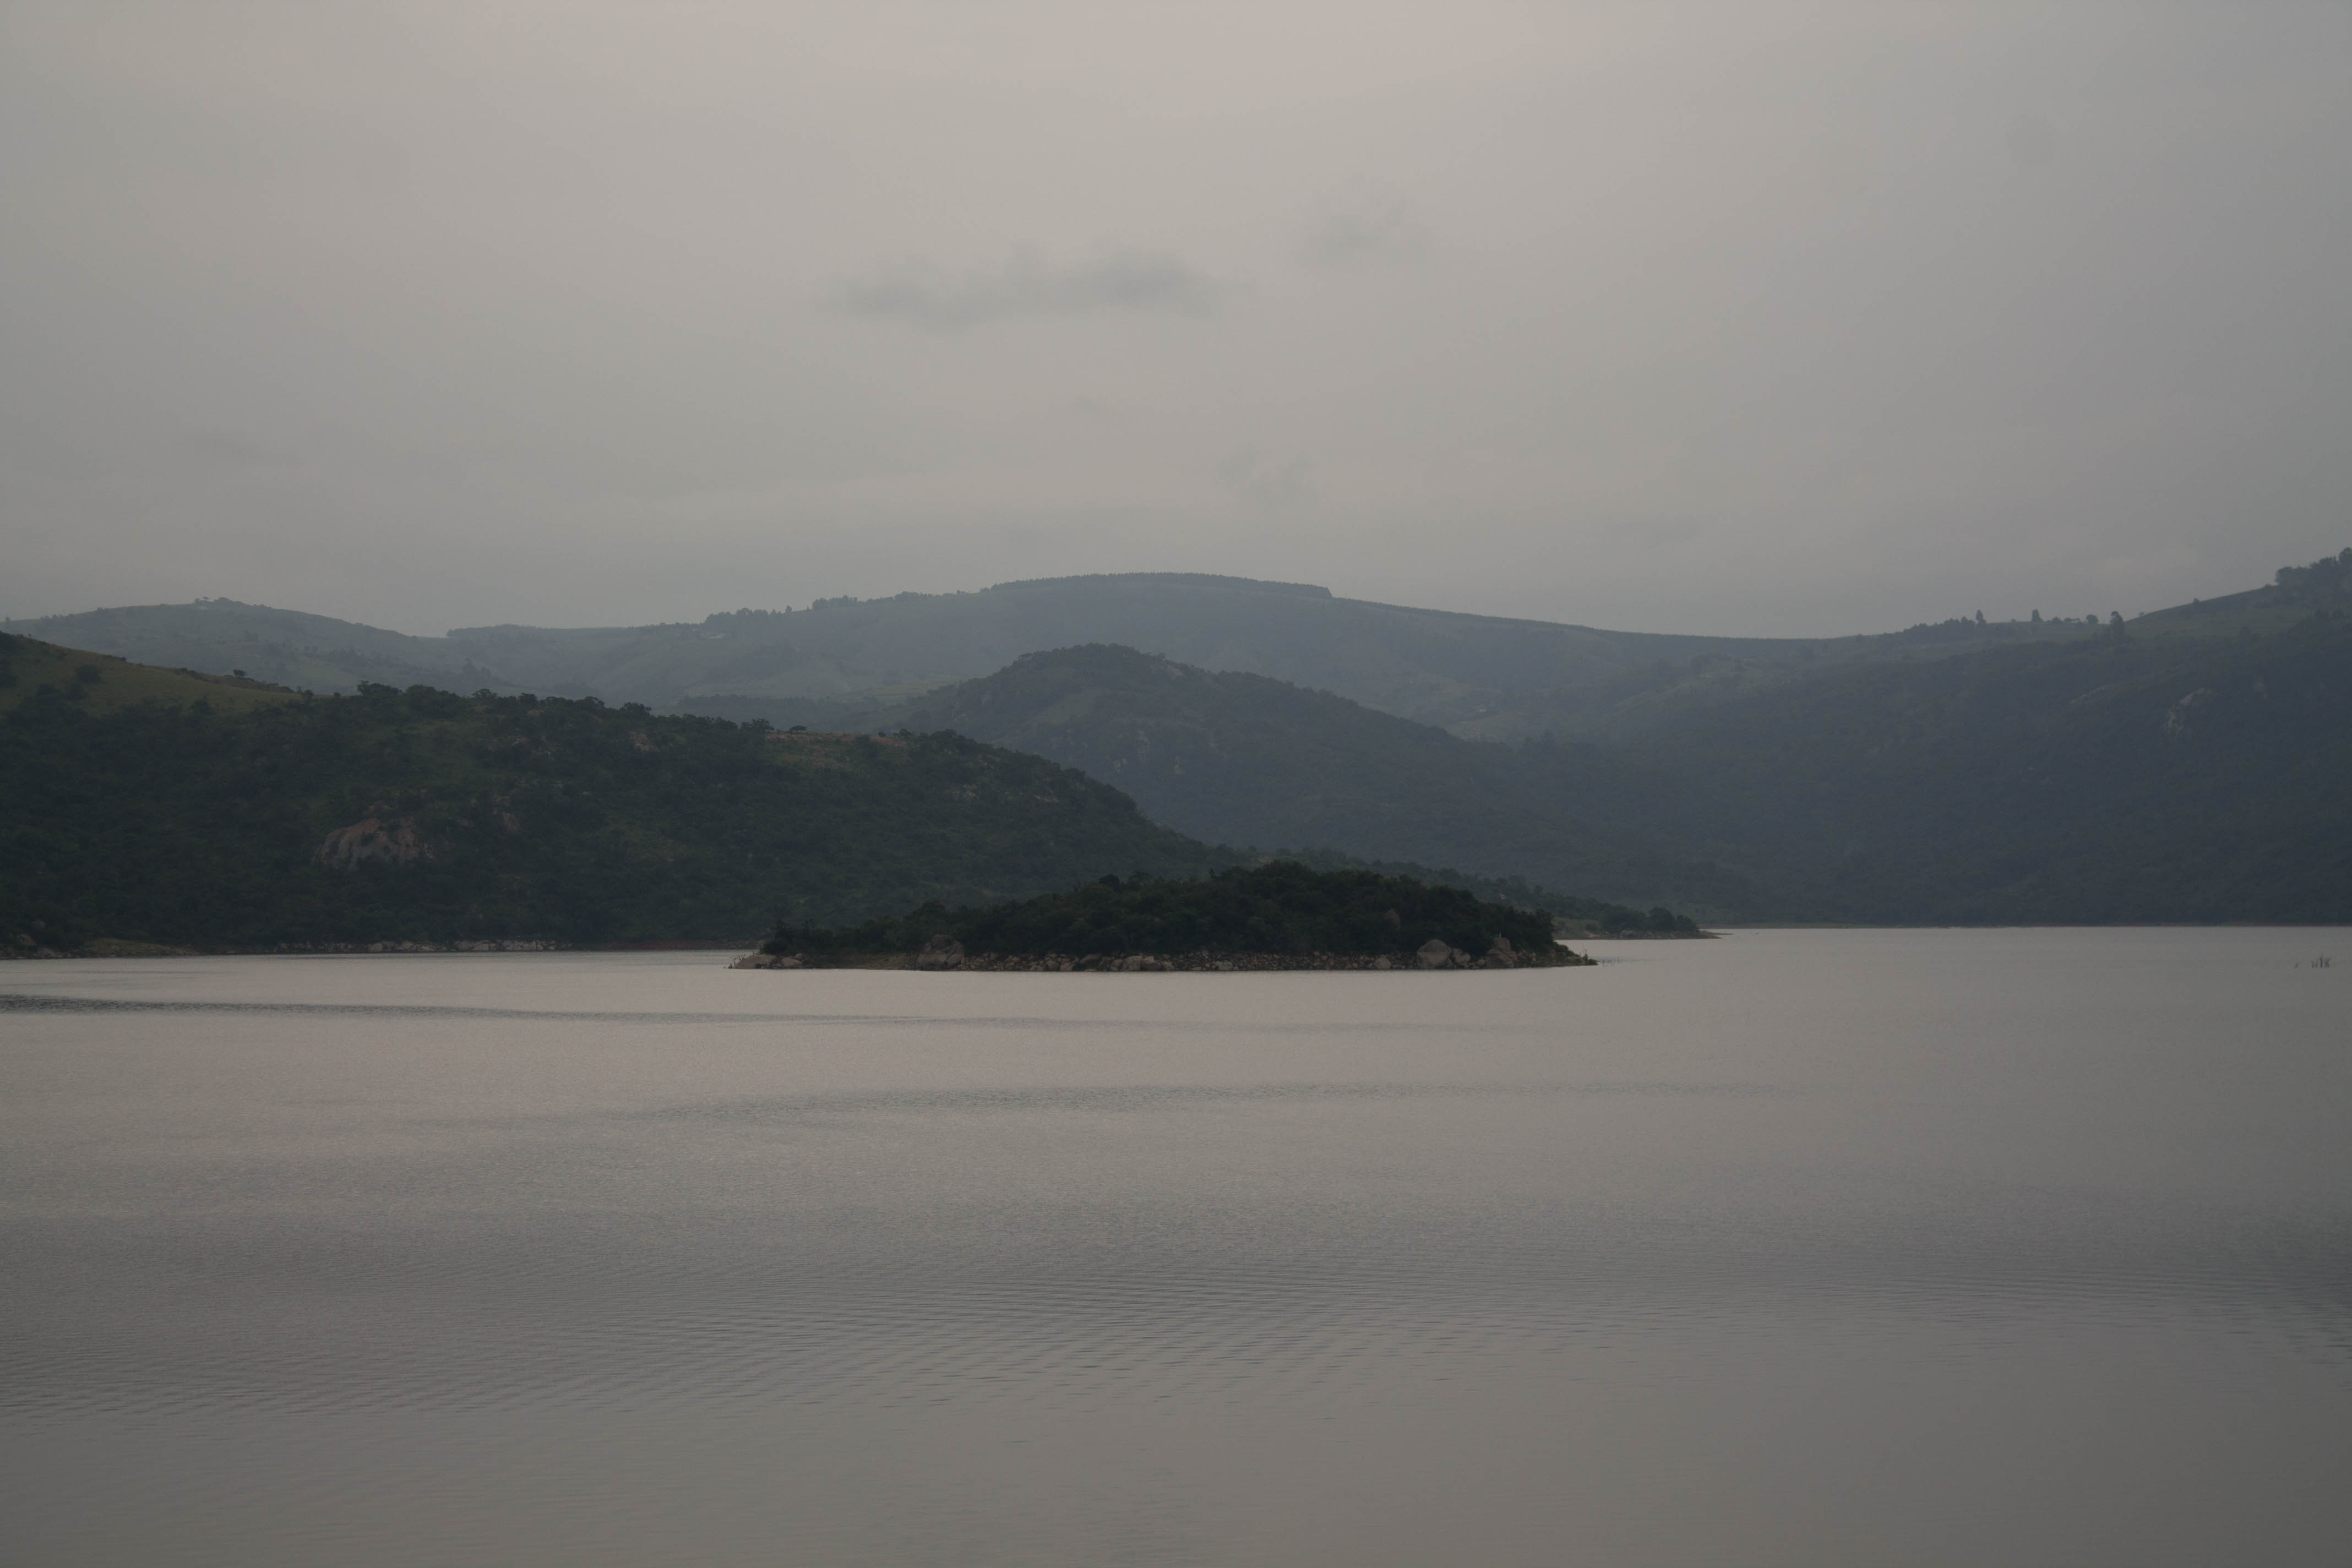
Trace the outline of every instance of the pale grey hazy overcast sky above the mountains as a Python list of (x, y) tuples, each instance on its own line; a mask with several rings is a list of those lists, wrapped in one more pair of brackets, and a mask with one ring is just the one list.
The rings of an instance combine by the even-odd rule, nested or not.
[(2347, 543), (2352, 5), (0, 7), (0, 614), (1846, 632)]

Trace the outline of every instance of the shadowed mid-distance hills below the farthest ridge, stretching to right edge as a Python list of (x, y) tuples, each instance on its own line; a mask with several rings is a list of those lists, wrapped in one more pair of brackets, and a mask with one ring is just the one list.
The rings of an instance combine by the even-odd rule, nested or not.
[(1710, 922), (2345, 922), (2352, 602), (2300, 590), (2267, 632), (2223, 609), (1830, 668), (1611, 743), (1458, 741), (1115, 646), (1016, 661), (910, 722), (1087, 769), (1195, 835)]

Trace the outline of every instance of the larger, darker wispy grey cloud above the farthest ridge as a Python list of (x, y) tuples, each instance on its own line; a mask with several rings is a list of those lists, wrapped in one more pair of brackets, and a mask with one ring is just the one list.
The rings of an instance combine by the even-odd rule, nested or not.
[(931, 266), (908, 266), (847, 280), (826, 303), (844, 315), (955, 331), (1021, 315), (1200, 315), (1223, 292), (1218, 280), (1169, 252), (1122, 249), (1075, 266), (1018, 252), (985, 273), (950, 277)]

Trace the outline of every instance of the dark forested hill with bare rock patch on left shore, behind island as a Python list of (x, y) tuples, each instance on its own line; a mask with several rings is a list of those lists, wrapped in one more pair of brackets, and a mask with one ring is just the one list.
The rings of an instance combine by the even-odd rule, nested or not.
[(0, 943), (755, 940), (1232, 856), (957, 736), (301, 698), (0, 639)]

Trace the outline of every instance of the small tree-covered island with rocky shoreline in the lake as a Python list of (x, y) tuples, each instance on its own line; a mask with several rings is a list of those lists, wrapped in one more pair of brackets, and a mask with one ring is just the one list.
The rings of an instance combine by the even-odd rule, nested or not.
[(1016, 903), (927, 903), (863, 926), (779, 924), (736, 969), (1167, 973), (1244, 969), (1564, 969), (1545, 910), (1298, 860), (1200, 879), (1103, 877)]

